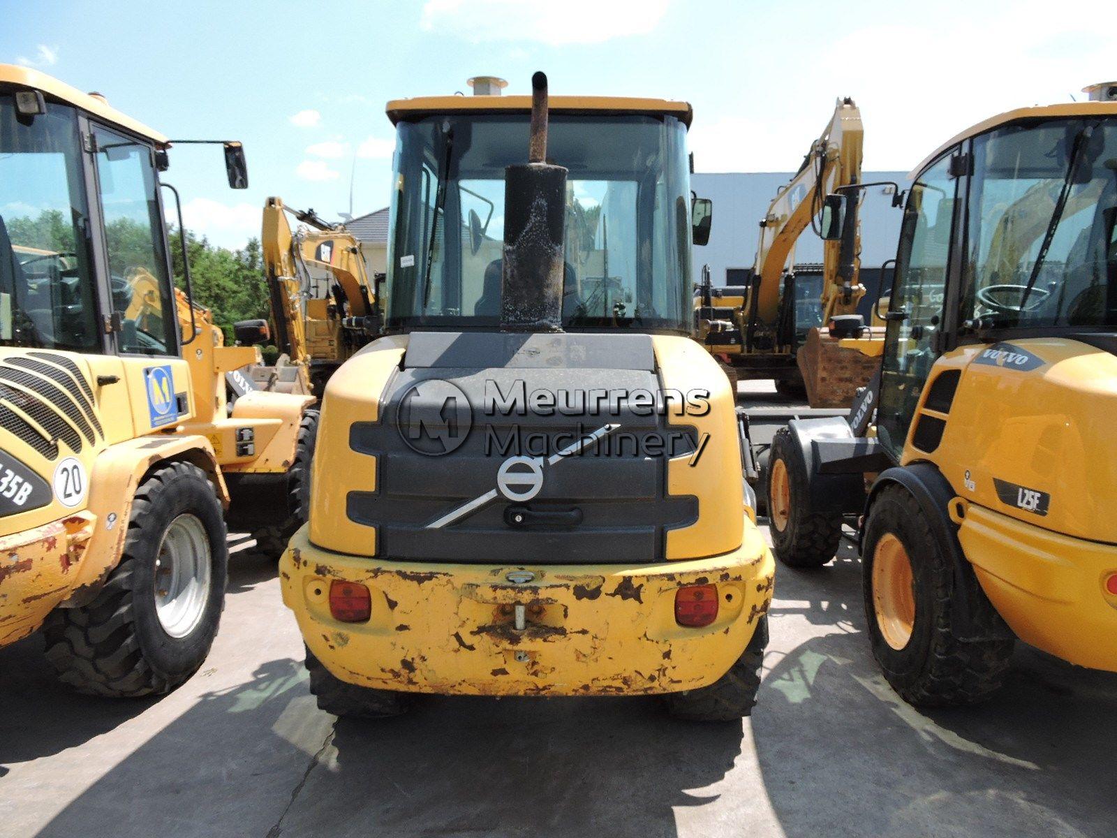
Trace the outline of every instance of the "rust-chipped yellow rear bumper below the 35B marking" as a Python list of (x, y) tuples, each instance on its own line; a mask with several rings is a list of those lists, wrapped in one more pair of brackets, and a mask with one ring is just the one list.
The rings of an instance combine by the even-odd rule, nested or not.
[(0, 646), (30, 635), (73, 593), (92, 526), (93, 516), (78, 513), (0, 536)]

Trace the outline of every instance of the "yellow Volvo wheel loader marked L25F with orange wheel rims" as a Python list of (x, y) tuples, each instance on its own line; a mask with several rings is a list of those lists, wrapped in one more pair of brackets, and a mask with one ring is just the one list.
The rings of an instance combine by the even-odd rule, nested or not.
[(822, 565), (856, 522), (872, 651), (913, 704), (985, 698), (1016, 639), (1117, 672), (1117, 84), (1087, 89), (919, 165), (878, 375), (773, 444), (776, 556)]

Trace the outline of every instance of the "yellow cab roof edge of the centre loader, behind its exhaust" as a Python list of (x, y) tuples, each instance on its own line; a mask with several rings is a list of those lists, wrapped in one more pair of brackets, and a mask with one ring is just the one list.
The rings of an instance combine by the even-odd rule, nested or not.
[[(551, 96), (547, 103), (553, 114), (646, 114), (675, 116), (690, 127), (693, 111), (686, 102), (638, 98), (634, 96)], [(497, 114), (532, 111), (531, 96), (419, 96), (393, 99), (385, 108), (392, 124), (439, 114)]]

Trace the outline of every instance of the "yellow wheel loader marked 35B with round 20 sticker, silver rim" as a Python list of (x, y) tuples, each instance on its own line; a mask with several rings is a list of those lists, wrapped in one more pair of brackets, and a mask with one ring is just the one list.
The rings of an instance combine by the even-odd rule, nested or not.
[[(246, 390), (229, 409), (223, 373), (259, 356), (220, 345), (189, 274), (176, 302), (169, 146), (102, 97), (0, 65), (0, 646), (45, 627), (61, 679), (103, 695), (164, 693), (201, 665), (226, 477), (286, 482), (311, 401)], [(244, 150), (223, 146), (242, 188)]]

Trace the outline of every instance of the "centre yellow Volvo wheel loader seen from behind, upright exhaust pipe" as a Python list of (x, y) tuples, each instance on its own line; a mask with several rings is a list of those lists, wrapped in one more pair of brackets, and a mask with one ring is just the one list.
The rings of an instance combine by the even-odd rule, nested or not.
[(318, 706), (658, 695), (746, 715), (773, 560), (728, 382), (689, 337), (689, 105), (548, 107), (540, 73), (532, 97), (388, 114), (389, 334), (326, 388), (309, 523), (280, 562)]

